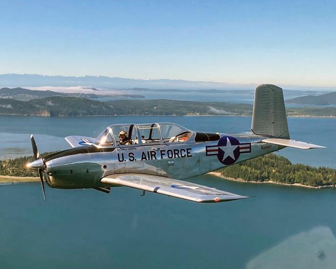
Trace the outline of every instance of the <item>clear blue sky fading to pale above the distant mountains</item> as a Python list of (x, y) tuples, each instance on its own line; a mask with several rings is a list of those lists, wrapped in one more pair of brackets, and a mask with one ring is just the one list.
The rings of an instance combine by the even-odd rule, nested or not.
[(336, 1), (2, 1), (0, 73), (336, 86)]

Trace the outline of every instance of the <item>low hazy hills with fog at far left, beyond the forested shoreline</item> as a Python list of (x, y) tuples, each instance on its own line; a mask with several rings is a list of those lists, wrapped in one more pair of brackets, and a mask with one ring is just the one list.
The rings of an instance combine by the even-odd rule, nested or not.
[[(96, 90), (94, 88), (90, 88), (88, 90)], [(0, 98), (5, 99), (15, 99), (15, 100), (22, 100), (28, 101), (32, 99), (39, 99), (45, 97), (52, 97), (52, 96), (63, 96), (63, 97), (78, 97), (81, 96), (82, 98), (94, 99), (94, 98), (101, 98), (101, 97), (135, 97), (135, 98), (142, 98), (142, 95), (136, 94), (115, 94), (115, 95), (107, 95), (107, 94), (94, 94), (94, 93), (71, 93), (71, 92), (56, 92), (52, 90), (28, 90), (23, 88), (1, 88), (0, 89)]]

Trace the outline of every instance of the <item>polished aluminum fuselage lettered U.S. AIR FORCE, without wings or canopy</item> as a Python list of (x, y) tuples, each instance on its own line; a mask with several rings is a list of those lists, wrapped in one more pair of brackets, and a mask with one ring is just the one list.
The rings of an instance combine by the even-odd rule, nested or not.
[[(219, 135), (230, 135), (240, 143), (251, 143), (250, 151), (240, 154), (234, 163), (283, 148), (261, 142), (265, 136)], [(97, 188), (105, 186), (101, 179), (112, 174), (139, 173), (188, 179), (227, 166), (216, 155), (207, 153), (207, 147), (215, 147), (218, 141), (189, 140), (184, 143), (129, 145), (109, 149), (99, 149), (93, 145), (72, 148), (44, 158), (44, 178), (53, 188)]]

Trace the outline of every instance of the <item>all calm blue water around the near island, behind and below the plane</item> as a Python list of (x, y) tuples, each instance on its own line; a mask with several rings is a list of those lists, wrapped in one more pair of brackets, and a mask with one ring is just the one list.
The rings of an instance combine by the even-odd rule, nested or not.
[[(248, 129), (250, 117), (0, 116), (1, 156), (68, 148), (66, 135), (94, 136), (121, 122), (172, 121), (194, 130)], [(326, 150), (283, 150), (292, 161), (335, 167), (336, 119), (290, 118), (293, 137)], [(16, 152), (14, 152), (14, 149)], [(189, 179), (241, 195), (236, 202), (198, 204), (131, 188), (0, 186), (2, 268), (335, 268), (336, 190)]]

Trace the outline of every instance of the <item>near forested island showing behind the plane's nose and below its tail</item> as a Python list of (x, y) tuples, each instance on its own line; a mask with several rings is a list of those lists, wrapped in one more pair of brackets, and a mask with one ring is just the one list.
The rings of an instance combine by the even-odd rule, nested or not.
[[(44, 153), (45, 156), (50, 153)], [(25, 167), (33, 157), (0, 160), (0, 176), (38, 177), (38, 173)], [(336, 169), (292, 164), (287, 158), (268, 154), (218, 170), (223, 178), (247, 182), (275, 182), (321, 187), (336, 185)], [(15, 179), (15, 181), (20, 181)]]

